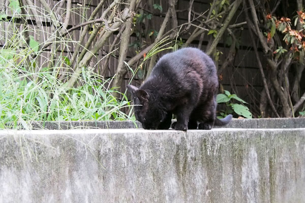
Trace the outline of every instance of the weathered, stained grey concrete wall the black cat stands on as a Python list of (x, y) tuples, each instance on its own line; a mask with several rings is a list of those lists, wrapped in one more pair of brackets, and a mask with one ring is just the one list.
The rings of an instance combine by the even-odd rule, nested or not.
[(305, 128), (0, 131), (0, 202), (305, 202)]

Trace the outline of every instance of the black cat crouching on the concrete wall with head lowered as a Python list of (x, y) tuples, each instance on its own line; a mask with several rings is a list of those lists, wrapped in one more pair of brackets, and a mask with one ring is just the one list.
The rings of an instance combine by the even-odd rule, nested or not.
[[(145, 129), (211, 129), (232, 119), (216, 118), (218, 77), (212, 59), (196, 48), (182, 48), (160, 58), (139, 88), (128, 85), (135, 116)], [(199, 125), (198, 125), (199, 123)]]

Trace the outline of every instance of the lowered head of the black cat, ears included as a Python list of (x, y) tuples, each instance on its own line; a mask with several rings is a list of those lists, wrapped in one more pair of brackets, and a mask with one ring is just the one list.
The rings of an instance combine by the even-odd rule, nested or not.
[(133, 85), (127, 85), (134, 101), (135, 116), (142, 123), (144, 129), (158, 129), (159, 124), (165, 119), (166, 112), (163, 111), (158, 101), (147, 91)]

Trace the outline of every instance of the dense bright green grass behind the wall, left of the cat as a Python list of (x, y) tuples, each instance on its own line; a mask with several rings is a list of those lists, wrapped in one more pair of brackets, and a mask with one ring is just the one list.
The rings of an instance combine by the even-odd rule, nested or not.
[[(123, 108), (131, 108), (127, 97), (117, 100), (109, 80), (83, 69), (82, 85), (66, 88), (53, 72), (21, 72), (0, 66), (0, 128), (30, 128), (31, 121), (134, 120)], [(36, 82), (37, 81), (37, 82)], [(131, 111), (130, 111), (131, 112)], [(26, 122), (28, 121), (28, 122)]]

